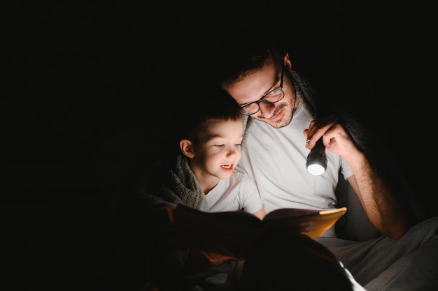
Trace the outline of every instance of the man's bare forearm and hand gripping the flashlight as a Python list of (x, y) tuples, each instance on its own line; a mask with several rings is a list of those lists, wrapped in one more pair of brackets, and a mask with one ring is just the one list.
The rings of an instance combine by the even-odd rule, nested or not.
[(382, 234), (393, 239), (402, 237), (414, 220), (409, 213), (409, 200), (401, 199), (376, 172), (367, 156), (358, 149), (337, 117), (329, 116), (311, 121), (304, 135), (310, 140), (306, 147), (312, 149), (316, 141), (323, 136), (327, 150), (342, 156), (353, 170), (348, 178), (358, 195), (369, 221)]

